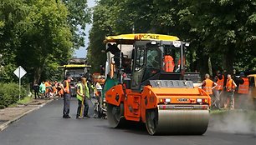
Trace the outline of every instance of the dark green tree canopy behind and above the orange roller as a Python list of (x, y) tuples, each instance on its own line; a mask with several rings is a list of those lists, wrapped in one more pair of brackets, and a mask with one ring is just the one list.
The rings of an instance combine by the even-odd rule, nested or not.
[[(99, 0), (88, 47), (95, 71), (105, 64), (105, 36), (154, 32), (191, 42), (188, 69), (202, 73), (255, 70), (256, 2), (253, 0)], [(100, 57), (92, 57), (95, 54)]]

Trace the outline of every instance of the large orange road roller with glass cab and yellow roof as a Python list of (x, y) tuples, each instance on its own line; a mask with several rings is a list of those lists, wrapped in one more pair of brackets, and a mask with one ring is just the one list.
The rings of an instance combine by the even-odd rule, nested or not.
[(185, 72), (189, 43), (158, 34), (125, 36), (105, 39), (120, 49), (118, 59), (107, 54), (106, 81), (116, 80), (105, 92), (110, 127), (128, 126), (128, 120), (145, 122), (151, 135), (205, 133), (211, 98), (193, 87), (199, 74)]

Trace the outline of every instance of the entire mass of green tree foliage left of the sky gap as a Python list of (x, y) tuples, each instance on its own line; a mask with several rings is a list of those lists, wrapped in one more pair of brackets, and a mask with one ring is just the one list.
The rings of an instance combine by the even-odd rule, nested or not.
[(19, 65), (27, 70), (28, 81), (57, 79), (57, 66), (69, 60), (74, 48), (84, 45), (79, 31), (89, 22), (86, 0), (2, 0), (1, 81), (12, 82)]

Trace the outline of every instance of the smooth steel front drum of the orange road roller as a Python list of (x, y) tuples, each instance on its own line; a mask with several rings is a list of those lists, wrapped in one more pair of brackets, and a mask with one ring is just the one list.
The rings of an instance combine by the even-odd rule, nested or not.
[(207, 131), (208, 109), (151, 109), (146, 112), (146, 128), (154, 134), (201, 135)]

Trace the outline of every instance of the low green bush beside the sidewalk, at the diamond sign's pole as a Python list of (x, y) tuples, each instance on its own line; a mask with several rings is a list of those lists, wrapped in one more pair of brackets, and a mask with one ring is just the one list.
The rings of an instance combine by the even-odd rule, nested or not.
[[(27, 96), (27, 91), (21, 87), (21, 98)], [(8, 107), (10, 104), (18, 102), (18, 84), (0, 83), (0, 108)]]

